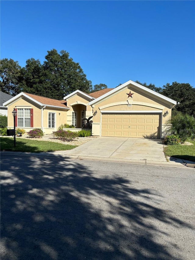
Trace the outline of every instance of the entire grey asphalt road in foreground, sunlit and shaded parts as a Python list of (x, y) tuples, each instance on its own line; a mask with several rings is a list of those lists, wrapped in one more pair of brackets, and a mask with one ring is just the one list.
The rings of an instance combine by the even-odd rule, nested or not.
[(193, 260), (192, 168), (1, 156), (1, 260)]

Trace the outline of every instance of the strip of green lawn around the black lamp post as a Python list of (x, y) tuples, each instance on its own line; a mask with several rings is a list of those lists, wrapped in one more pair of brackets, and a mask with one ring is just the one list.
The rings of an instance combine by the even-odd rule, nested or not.
[(10, 137), (1, 137), (1, 151), (18, 151), (18, 152), (53, 152), (71, 150), (77, 145), (60, 144), (50, 141), (39, 141), (36, 139), (19, 139), (16, 138), (16, 147), (14, 148), (14, 139)]

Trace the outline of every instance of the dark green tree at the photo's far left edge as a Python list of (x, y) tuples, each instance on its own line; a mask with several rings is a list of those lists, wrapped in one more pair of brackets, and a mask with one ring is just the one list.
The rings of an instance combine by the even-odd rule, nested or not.
[(13, 96), (19, 94), (21, 92), (19, 86), (19, 82), (21, 81), (21, 67), (18, 61), (1, 59), (0, 62), (1, 91)]

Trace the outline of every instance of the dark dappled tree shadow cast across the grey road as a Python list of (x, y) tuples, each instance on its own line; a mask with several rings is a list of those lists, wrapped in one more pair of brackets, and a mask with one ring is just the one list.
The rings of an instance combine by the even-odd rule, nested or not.
[(59, 155), (1, 162), (2, 260), (180, 259), (160, 224), (191, 227), (160, 209), (159, 194)]

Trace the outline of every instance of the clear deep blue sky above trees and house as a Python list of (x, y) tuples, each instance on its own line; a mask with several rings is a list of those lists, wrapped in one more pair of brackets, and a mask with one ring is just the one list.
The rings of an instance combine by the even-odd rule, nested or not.
[(194, 1), (1, 1), (1, 59), (66, 50), (92, 84), (195, 86)]

